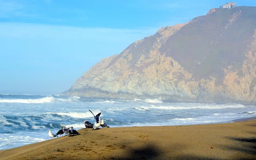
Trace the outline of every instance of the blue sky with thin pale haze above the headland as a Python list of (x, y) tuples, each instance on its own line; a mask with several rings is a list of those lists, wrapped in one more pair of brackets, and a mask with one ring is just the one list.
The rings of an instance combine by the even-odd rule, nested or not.
[(103, 58), (226, 2), (0, 0), (0, 94), (61, 94)]

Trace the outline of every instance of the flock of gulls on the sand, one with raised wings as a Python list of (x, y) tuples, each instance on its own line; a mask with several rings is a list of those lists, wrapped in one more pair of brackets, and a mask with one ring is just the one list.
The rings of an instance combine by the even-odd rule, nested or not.
[[(101, 112), (98, 113), (95, 116), (94, 113), (90, 109), (89, 109), (89, 111), (93, 114), (95, 122), (94, 122), (94, 125), (93, 125), (91, 122), (84, 120), (83, 123), (86, 126), (86, 128), (92, 128), (93, 130), (95, 130), (95, 129), (99, 129), (100, 126), (102, 128), (103, 127), (109, 127), (108, 125), (106, 125), (104, 123), (104, 119), (100, 120), (99, 117), (101, 115)], [(56, 137), (58, 135), (62, 136), (62, 134), (64, 134), (64, 133), (66, 135), (68, 135), (68, 134), (69, 135), (79, 135), (79, 133), (73, 127), (66, 128), (66, 127), (63, 126), (63, 127), (61, 127), (61, 129), (56, 134), (52, 133), (51, 130), (48, 131), (48, 134), (49, 134), (50, 138), (54, 138), (54, 137)]]

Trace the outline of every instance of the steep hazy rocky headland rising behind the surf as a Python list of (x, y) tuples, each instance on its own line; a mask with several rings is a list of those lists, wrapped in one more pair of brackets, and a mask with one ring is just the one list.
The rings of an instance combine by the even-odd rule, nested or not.
[(64, 94), (256, 104), (256, 7), (212, 9), (132, 43)]

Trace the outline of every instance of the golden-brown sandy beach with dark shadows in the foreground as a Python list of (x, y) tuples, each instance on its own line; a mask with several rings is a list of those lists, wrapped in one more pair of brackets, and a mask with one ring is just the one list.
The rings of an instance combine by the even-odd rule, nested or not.
[(2, 150), (0, 159), (256, 159), (256, 119), (79, 133)]

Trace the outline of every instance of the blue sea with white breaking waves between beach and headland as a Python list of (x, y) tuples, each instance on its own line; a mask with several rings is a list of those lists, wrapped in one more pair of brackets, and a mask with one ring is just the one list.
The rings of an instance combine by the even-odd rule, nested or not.
[(110, 127), (212, 124), (255, 117), (255, 105), (170, 103), (160, 99), (100, 100), (0, 94), (0, 150), (51, 139), (62, 126), (78, 130), (94, 115)]

